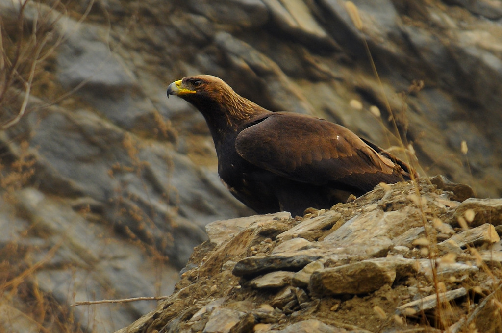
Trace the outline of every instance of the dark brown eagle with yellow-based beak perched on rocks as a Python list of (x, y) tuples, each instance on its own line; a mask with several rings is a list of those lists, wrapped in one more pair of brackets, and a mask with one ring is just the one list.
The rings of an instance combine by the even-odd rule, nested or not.
[(271, 112), (211, 75), (173, 82), (167, 95), (193, 104), (206, 119), (218, 174), (230, 192), (258, 213), (303, 214), (362, 195), (380, 182), (416, 176), (406, 163), (343, 126)]

